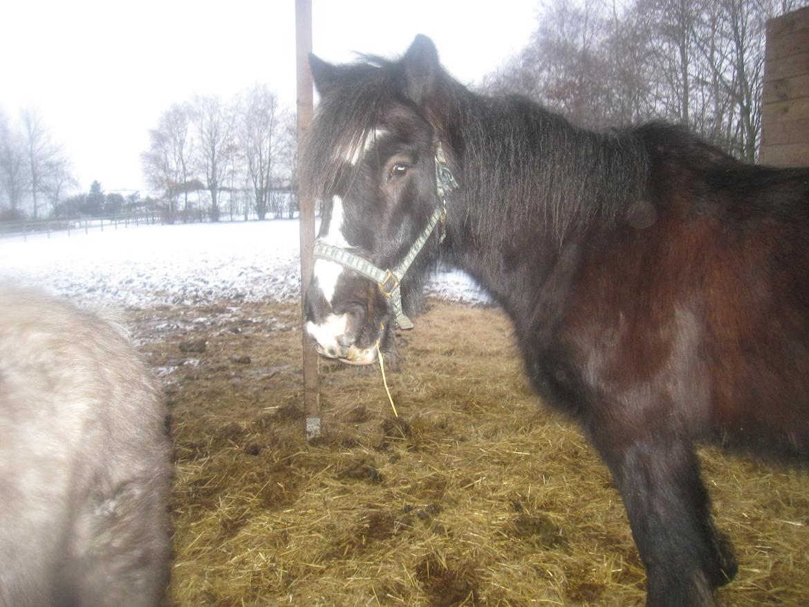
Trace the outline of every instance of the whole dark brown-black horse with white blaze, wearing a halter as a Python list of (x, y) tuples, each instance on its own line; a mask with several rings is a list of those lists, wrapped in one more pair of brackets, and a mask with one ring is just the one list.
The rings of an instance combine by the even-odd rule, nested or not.
[(609, 466), (646, 604), (714, 605), (736, 565), (695, 442), (809, 462), (809, 170), (477, 95), (424, 36), (400, 61), (311, 68), (321, 354), (374, 362), (409, 326), (399, 297), (415, 311), (438, 260), (465, 270), (513, 320), (540, 397)]

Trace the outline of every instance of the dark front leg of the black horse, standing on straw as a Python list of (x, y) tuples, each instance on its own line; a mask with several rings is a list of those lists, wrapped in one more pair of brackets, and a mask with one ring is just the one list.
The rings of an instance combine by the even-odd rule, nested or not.
[[(718, 535), (691, 441), (656, 429), (616, 441), (595, 433), (629, 515), (646, 567), (647, 607), (709, 607), (733, 579), (730, 545)], [(634, 429), (633, 431), (637, 431)]]

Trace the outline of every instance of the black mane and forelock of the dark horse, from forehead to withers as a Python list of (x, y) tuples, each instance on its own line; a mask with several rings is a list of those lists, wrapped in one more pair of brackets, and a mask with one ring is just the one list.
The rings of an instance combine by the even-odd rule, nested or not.
[(620, 219), (643, 196), (655, 159), (736, 163), (683, 127), (650, 123), (599, 133), (522, 96), (472, 92), (443, 68), (432, 107), (408, 99), (400, 62), (361, 55), (332, 69), (339, 91), (320, 101), (301, 165), (303, 188), (320, 200), (338, 183), (360, 177), (345, 159), (362, 148), (392, 104), (409, 105), (438, 129), (461, 184), (449, 202), (465, 209), (467, 225), (480, 234), (497, 232), (487, 229), (493, 225), (502, 231), (531, 224), (561, 243), (571, 227)]

